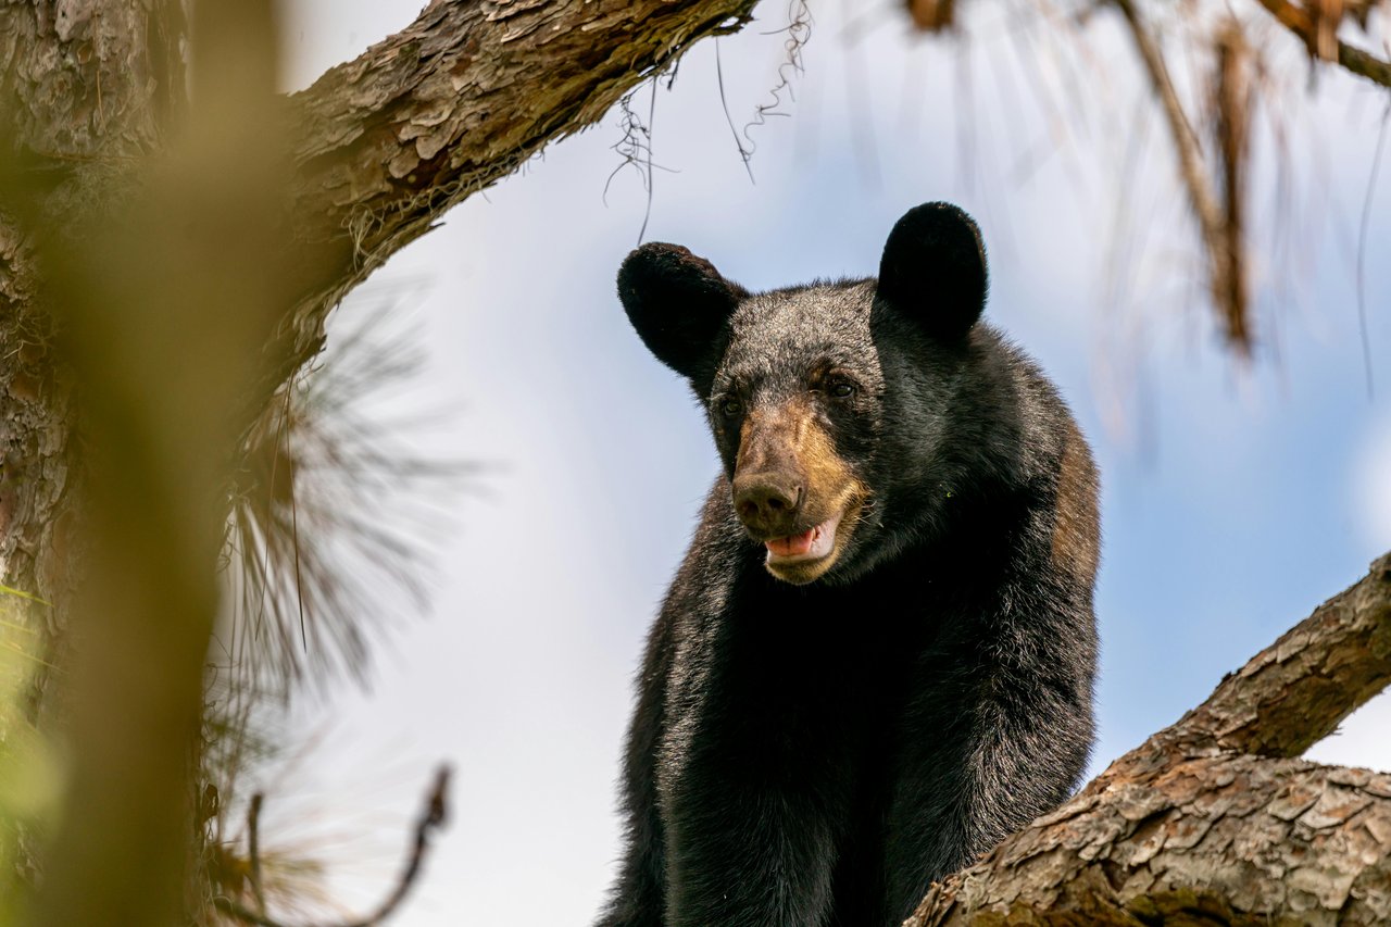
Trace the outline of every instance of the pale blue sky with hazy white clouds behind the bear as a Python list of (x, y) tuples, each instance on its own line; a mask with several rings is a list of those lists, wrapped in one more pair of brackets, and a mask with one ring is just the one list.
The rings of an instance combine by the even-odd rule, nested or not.
[[(419, 0), (288, 8), (287, 85), (305, 86)], [(655, 97), (647, 239), (768, 288), (874, 274), (921, 202), (978, 219), (988, 315), (1053, 376), (1102, 469), (1099, 771), (1391, 548), (1391, 171), (1367, 252), (1376, 399), (1353, 273), (1384, 95), (1324, 74), (1308, 96), (1299, 52), (1281, 58), (1296, 93), (1280, 116), (1287, 171), (1271, 134), (1256, 139), (1262, 344), (1244, 370), (1200, 299), (1164, 128), (1109, 14), (1078, 33), (1084, 52), (1024, 7), (967, 10), (974, 39), (956, 45), (911, 35), (899, 4), (814, 6), (796, 102), (785, 93), (783, 116), (750, 132), (757, 182), (715, 43), (700, 45)], [(778, 84), (786, 22), (768, 3), (719, 43), (736, 127)], [(1175, 64), (1181, 78), (1195, 67)], [(651, 100), (644, 88), (634, 102), (644, 120)], [(264, 843), (314, 848), (338, 901), (366, 910), (395, 878), (431, 768), (453, 764), (452, 824), (403, 927), (586, 924), (619, 852), (632, 675), (716, 472), (684, 384), (613, 294), (648, 206), (634, 168), (605, 203), (620, 138), (611, 114), (551, 146), (448, 213), (338, 319), (403, 320), (427, 363), (380, 411), (444, 411), (419, 447), (487, 465), (473, 491), (438, 498), (456, 528), (427, 566), (433, 612), (383, 615), (396, 632), (371, 693), (303, 700), (288, 735), (302, 759), (263, 779)], [(1287, 238), (1270, 248), (1277, 207)], [(1381, 699), (1313, 756), (1391, 768), (1388, 732)]]

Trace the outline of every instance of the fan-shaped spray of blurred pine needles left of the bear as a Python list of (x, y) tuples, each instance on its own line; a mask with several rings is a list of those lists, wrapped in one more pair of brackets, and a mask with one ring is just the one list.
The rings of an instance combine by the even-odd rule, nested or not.
[(364, 413), (420, 369), (408, 338), (380, 327), (346, 331), (245, 437), (213, 661), (252, 689), (364, 681), (373, 637), (426, 608), (421, 568), (445, 523), (430, 500), (470, 468), (412, 450), (410, 422)]

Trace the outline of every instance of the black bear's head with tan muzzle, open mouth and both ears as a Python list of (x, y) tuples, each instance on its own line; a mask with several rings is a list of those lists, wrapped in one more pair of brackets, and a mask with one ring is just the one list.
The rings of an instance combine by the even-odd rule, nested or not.
[(733, 514), (797, 585), (851, 579), (929, 529), (986, 288), (979, 228), (949, 203), (897, 221), (878, 280), (751, 294), (668, 244), (618, 276), (633, 327), (705, 408)]

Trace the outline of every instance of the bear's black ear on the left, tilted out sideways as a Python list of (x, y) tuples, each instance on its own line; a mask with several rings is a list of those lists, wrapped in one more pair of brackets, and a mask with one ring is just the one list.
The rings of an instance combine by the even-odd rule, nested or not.
[(648, 351), (691, 381), (711, 376), (721, 330), (747, 295), (680, 245), (643, 245), (618, 271), (618, 296)]

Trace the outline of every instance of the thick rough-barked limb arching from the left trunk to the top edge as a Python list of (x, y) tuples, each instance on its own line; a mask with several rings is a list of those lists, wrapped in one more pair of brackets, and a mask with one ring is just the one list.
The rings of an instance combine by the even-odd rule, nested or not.
[(434, 0), (405, 31), (289, 99), (294, 234), (314, 259), (277, 358), (447, 209), (597, 122), (753, 0)]

